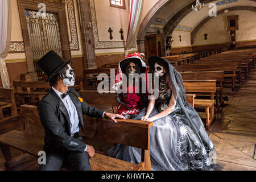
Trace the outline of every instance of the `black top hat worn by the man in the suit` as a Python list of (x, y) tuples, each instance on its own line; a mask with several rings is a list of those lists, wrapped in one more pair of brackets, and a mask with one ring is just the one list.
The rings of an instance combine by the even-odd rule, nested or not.
[(48, 80), (51, 80), (51, 78), (55, 76), (60, 69), (69, 64), (70, 61), (71, 60), (64, 61), (56, 52), (49, 51), (38, 61), (37, 64), (43, 70), (43, 72), (46, 73)]

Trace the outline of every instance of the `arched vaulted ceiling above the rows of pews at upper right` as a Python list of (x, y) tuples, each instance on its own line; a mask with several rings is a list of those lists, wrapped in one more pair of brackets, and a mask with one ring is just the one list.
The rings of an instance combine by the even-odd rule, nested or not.
[[(151, 27), (163, 28), (164, 35), (170, 35), (176, 30), (193, 31), (203, 20), (208, 20), (208, 13), (211, 7), (210, 3), (216, 3), (217, 12), (223, 13), (226, 7), (230, 10), (234, 7), (243, 7), (242, 10), (246, 10), (246, 7), (256, 7), (255, 0), (201, 0), (201, 3), (205, 3), (205, 6), (199, 11), (193, 11), (192, 5), (195, 6), (195, 0), (170, 0), (168, 5), (159, 10), (158, 15), (152, 20)], [(218, 14), (217, 13), (217, 14)]]

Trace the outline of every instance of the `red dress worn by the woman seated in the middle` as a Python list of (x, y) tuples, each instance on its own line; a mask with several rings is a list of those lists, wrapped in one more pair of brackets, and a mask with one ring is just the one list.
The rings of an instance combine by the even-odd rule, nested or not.
[(121, 104), (119, 104), (117, 109), (118, 114), (120, 115), (138, 114), (139, 111), (141, 111), (142, 109), (141, 97), (136, 93), (138, 93), (138, 86), (128, 86), (127, 94), (122, 94), (122, 101), (125, 102), (125, 104), (128, 107), (132, 107), (132, 109), (127, 110), (125, 106), (122, 106)]

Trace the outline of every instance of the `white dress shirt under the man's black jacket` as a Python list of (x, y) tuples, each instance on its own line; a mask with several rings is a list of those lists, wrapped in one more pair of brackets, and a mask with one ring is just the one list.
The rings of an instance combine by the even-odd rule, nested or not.
[[(71, 137), (73, 137), (75, 133), (79, 132), (79, 116), (77, 114), (76, 106), (73, 104), (73, 101), (71, 100), (69, 95), (67, 95), (65, 98), (62, 98), (63, 93), (53, 88), (53, 86), (52, 86), (52, 89), (60, 97), (61, 101), (63, 102), (63, 104), (65, 105), (68, 111), (69, 121), (70, 121), (70, 133), (71, 133)], [(87, 149), (87, 145), (84, 151), (86, 151), (86, 149)]]

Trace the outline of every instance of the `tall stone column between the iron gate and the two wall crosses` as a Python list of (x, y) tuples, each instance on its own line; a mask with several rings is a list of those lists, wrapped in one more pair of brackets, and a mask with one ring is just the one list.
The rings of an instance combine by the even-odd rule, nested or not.
[(77, 1), (79, 2), (81, 15), (81, 37), (82, 37), (82, 51), (84, 52), (84, 68), (97, 68), (92, 20), (90, 18), (90, 2), (89, 0)]

